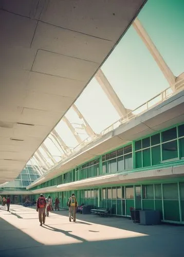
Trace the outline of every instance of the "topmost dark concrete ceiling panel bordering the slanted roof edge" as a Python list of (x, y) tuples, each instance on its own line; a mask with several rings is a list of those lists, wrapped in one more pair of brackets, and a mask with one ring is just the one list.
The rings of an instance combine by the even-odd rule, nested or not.
[(117, 41), (143, 2), (141, 0), (50, 0), (42, 12), (41, 21)]

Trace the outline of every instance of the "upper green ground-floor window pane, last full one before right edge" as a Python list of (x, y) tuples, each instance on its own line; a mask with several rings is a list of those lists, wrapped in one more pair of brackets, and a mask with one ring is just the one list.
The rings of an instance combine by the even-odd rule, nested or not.
[(177, 183), (163, 184), (163, 199), (177, 200), (178, 199), (178, 185)]

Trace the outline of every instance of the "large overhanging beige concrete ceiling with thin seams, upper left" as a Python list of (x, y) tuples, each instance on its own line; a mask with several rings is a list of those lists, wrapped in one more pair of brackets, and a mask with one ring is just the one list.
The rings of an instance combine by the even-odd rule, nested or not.
[(0, 0), (0, 183), (22, 171), (145, 2)]

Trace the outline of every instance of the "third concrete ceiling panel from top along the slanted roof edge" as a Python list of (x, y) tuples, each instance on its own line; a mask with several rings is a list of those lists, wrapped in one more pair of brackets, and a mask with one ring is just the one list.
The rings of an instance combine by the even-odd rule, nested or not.
[(98, 67), (98, 63), (39, 49), (32, 71), (87, 82)]

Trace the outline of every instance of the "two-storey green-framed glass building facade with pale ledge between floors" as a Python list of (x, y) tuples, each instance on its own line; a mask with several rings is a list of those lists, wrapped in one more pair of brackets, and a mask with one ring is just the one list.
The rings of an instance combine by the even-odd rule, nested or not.
[[(45, 192), (53, 198), (58, 196), (61, 206), (66, 206), (74, 192), (79, 204), (112, 208), (113, 214), (120, 216), (130, 216), (131, 207), (160, 210), (163, 222), (182, 224), (183, 169), (184, 124), (181, 123), (137, 138), (30, 190)], [(123, 179), (130, 175), (131, 178)], [(61, 190), (57, 188), (54, 192), (53, 186), (58, 185)]]

